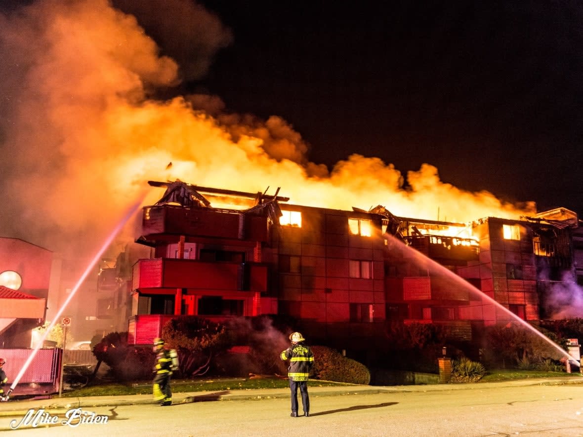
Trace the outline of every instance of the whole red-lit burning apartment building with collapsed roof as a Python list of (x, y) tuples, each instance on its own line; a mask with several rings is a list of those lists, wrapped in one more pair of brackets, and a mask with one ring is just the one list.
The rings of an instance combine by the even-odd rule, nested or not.
[(566, 209), (449, 223), (291, 205), (279, 189), (150, 185), (166, 192), (143, 208), (136, 240), (151, 255), (133, 266), (133, 344), (178, 315), (287, 316), (312, 341), (356, 353), (382, 349), (392, 321), (471, 343), (484, 326), (551, 317), (553, 284), (581, 284), (581, 222)]

